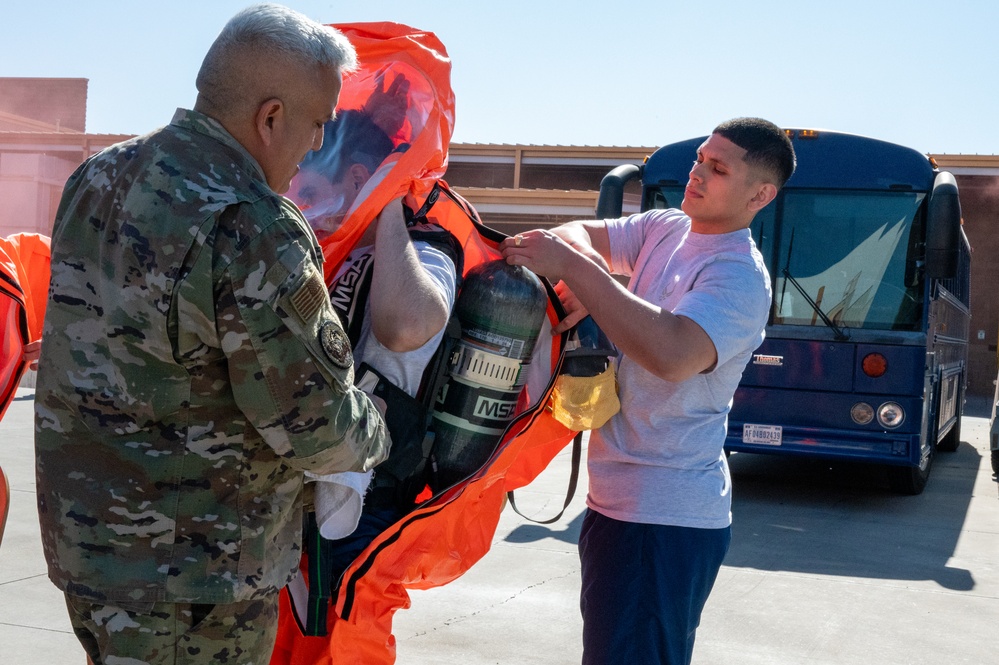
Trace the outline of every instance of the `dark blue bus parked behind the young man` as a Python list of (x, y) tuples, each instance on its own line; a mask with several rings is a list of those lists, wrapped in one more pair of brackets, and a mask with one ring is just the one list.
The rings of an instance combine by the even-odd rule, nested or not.
[[(766, 340), (743, 373), (727, 452), (882, 464), (919, 494), (961, 436), (970, 247), (954, 176), (915, 150), (790, 129), (798, 167), (751, 230), (773, 287)], [(705, 137), (601, 183), (598, 218), (679, 208)]]

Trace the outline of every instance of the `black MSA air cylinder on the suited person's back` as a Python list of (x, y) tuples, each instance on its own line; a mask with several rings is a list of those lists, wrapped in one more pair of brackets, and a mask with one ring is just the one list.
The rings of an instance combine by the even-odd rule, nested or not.
[(441, 488), (482, 466), (516, 415), (547, 306), (541, 280), (522, 266), (490, 261), (465, 276), (461, 339), (433, 414)]

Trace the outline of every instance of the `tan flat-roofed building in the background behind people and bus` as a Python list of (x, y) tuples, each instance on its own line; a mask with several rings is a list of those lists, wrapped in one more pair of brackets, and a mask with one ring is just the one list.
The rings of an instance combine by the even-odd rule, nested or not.
[[(58, 112), (9, 103), (5, 91), (31, 85), (43, 86), (41, 98)], [(48, 235), (66, 178), (85, 158), (130, 138), (85, 133), (85, 107), (85, 79), (0, 79), (0, 235)], [(513, 234), (592, 218), (603, 176), (621, 164), (641, 164), (654, 151), (455, 143), (445, 179), (488, 226)], [(991, 397), (999, 343), (999, 234), (993, 229), (999, 224), (999, 155), (931, 157), (957, 177), (973, 250), (968, 394)], [(626, 189), (626, 212), (638, 210), (639, 193), (635, 183)]]

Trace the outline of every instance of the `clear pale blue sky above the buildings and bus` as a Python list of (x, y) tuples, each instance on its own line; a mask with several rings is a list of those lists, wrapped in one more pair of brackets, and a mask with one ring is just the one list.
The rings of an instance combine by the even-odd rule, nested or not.
[[(5, 0), (0, 76), (87, 78), (88, 131), (144, 133), (193, 105), (205, 51), (248, 4)], [(324, 23), (436, 33), (459, 142), (658, 146), (758, 115), (924, 153), (999, 154), (993, 0), (285, 4)]]

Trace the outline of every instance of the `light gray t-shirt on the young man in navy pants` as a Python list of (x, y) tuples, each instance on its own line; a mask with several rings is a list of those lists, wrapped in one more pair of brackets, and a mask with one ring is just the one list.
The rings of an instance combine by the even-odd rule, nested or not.
[(718, 364), (673, 383), (619, 357), (621, 411), (591, 435), (587, 505), (628, 522), (724, 528), (732, 522), (728, 412), (770, 310), (763, 258), (748, 229), (693, 233), (679, 210), (610, 220), (607, 230), (611, 271), (630, 275), (628, 290), (643, 300), (703, 328)]

